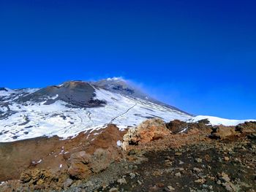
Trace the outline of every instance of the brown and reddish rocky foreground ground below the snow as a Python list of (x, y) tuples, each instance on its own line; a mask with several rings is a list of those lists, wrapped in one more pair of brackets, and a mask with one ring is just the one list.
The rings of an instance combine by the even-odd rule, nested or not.
[(0, 191), (256, 191), (256, 123), (146, 120), (0, 144)]

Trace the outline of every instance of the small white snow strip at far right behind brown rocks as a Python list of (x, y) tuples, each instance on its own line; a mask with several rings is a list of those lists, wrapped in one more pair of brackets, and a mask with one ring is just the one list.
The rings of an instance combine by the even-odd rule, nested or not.
[(246, 121), (256, 121), (253, 119), (249, 120), (230, 120), (230, 119), (225, 119), (225, 118), (217, 118), (213, 116), (206, 116), (206, 115), (198, 115), (195, 118), (192, 118), (192, 120), (188, 120), (188, 122), (197, 122), (198, 120), (203, 120), (203, 119), (208, 119), (210, 121), (210, 124), (213, 126), (237, 126), (240, 123), (244, 123)]

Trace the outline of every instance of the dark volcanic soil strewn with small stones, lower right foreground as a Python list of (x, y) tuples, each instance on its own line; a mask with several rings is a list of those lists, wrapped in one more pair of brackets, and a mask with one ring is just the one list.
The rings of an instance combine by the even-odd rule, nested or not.
[(255, 191), (255, 149), (255, 142), (223, 142), (149, 152), (135, 178), (127, 174), (126, 184), (103, 191)]

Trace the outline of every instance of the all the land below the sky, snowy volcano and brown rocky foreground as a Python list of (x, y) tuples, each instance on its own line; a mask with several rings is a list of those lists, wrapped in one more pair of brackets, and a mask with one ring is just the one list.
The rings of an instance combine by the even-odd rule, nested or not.
[(116, 77), (0, 88), (0, 191), (255, 191), (255, 122)]

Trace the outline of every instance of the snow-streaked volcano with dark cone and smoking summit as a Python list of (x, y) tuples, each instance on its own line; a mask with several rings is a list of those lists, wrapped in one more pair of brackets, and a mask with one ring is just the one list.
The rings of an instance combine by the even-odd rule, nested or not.
[(75, 137), (109, 123), (127, 128), (149, 118), (169, 122), (193, 116), (116, 77), (37, 89), (0, 89), (0, 142), (54, 135)]

